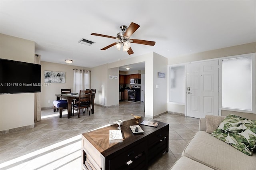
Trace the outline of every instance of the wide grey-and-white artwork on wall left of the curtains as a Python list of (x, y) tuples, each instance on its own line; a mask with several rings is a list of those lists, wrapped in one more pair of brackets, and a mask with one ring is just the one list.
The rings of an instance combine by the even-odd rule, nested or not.
[(44, 83), (66, 83), (66, 72), (45, 70)]

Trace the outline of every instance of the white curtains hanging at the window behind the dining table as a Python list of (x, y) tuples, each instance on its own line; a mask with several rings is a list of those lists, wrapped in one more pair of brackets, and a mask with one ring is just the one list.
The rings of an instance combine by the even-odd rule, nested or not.
[(88, 70), (74, 69), (74, 85), (73, 89), (75, 93), (79, 93), (80, 90), (86, 90), (91, 88), (91, 73)]

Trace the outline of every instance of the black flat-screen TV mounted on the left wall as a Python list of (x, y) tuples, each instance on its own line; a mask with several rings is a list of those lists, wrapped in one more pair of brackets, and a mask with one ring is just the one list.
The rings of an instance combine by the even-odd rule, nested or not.
[(41, 92), (41, 65), (0, 59), (0, 94)]

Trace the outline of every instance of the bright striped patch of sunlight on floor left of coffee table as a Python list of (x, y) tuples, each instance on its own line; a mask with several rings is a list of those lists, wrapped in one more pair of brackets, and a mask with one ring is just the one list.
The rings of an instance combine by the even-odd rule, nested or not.
[(4, 162), (0, 169), (60, 169), (74, 161), (72, 167), (81, 169), (81, 134)]

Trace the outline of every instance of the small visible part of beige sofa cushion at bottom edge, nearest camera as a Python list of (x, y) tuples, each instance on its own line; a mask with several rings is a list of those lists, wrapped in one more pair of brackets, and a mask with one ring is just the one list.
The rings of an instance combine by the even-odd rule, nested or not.
[(213, 170), (213, 169), (204, 164), (196, 162), (186, 156), (182, 156), (175, 162), (171, 170)]

